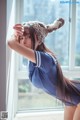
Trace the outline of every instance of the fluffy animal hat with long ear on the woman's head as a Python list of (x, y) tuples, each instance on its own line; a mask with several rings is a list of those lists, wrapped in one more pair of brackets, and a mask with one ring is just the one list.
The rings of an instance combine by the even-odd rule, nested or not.
[(62, 27), (63, 25), (64, 19), (62, 18), (55, 20), (52, 24), (49, 25), (45, 25), (44, 23), (39, 21), (29, 21), (23, 24), (24, 30), (26, 30), (25, 29), (26, 27), (32, 27), (36, 32), (38, 40), (42, 42), (44, 41), (45, 37), (49, 32), (55, 31)]

